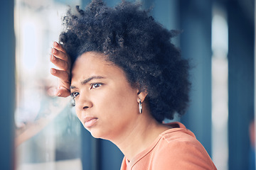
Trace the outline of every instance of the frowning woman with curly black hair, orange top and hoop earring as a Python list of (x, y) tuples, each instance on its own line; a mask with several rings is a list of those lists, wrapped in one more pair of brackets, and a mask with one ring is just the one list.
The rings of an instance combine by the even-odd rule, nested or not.
[(56, 95), (71, 94), (82, 125), (119, 147), (121, 169), (216, 169), (191, 131), (163, 123), (188, 106), (188, 62), (170, 42), (176, 32), (125, 1), (92, 1), (68, 11), (64, 24), (50, 55)]

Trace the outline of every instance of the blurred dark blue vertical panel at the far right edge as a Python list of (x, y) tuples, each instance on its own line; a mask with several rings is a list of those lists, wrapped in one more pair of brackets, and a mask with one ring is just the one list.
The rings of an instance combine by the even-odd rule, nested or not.
[[(229, 169), (249, 168), (249, 123), (254, 108), (254, 26), (238, 3), (228, 8)], [(239, 12), (238, 12), (239, 11)]]

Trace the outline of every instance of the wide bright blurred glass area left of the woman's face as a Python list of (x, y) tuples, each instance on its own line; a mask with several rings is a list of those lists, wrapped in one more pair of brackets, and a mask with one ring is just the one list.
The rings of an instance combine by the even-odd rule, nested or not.
[(50, 47), (80, 1), (16, 0), (16, 169), (82, 169), (80, 123), (70, 98), (53, 96)]

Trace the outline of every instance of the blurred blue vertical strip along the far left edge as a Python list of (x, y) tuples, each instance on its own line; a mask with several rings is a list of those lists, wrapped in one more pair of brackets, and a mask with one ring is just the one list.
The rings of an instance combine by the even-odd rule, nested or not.
[(15, 40), (14, 1), (0, 6), (0, 169), (14, 169)]

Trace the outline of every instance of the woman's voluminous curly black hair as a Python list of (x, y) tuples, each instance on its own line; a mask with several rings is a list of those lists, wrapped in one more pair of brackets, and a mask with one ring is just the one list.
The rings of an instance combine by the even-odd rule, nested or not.
[(84, 52), (101, 52), (124, 70), (130, 84), (146, 91), (153, 117), (162, 122), (188, 106), (188, 60), (171, 43), (176, 35), (154, 21), (141, 4), (122, 1), (114, 8), (92, 0), (85, 10), (76, 6), (63, 18), (60, 43), (72, 63)]

